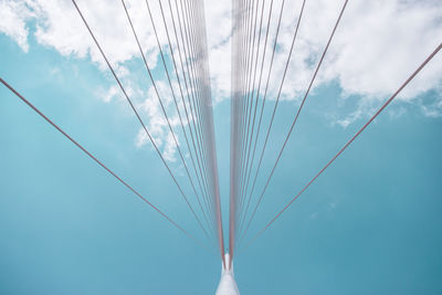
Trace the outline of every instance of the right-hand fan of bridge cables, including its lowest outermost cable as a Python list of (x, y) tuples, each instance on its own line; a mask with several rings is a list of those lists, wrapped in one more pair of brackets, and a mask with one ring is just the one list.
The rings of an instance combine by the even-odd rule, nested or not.
[[(314, 82), (324, 63), (326, 54), (333, 43), (333, 39), (338, 31), (348, 0), (343, 0), (340, 11), (336, 18), (330, 34), (325, 42), (324, 50), (318, 56), (314, 67), (312, 78), (306, 85), (301, 105), (294, 110), (294, 118), (285, 135), (284, 141), (276, 150), (276, 158), (270, 166), (270, 171), (264, 176), (262, 189), (257, 190), (259, 176), (263, 173), (263, 159), (276, 112), (280, 105), (284, 82), (287, 75), (293, 54), (296, 54), (296, 39), (299, 27), (303, 25), (304, 10), (306, 0), (299, 1), (301, 9), (295, 17), (296, 24), (292, 31), (292, 43), (287, 55), (284, 57), (283, 72), (281, 76), (273, 77), (274, 61), (280, 44), (280, 31), (283, 14), (292, 12), (286, 7), (285, 0), (281, 1), (278, 8), (274, 8), (274, 1), (270, 1), (266, 9), (266, 1), (248, 0), (232, 1), (232, 61), (231, 61), (231, 154), (230, 154), (230, 225), (229, 225), (229, 245), (231, 259), (233, 253), (244, 245), (251, 224), (257, 213), (265, 192), (273, 179), (274, 172), (281, 162), (282, 155), (287, 146), (291, 135), (296, 126)], [(267, 11), (267, 13), (264, 13)], [(273, 13), (275, 11), (275, 13)], [(274, 14), (274, 15), (273, 15)], [(277, 21), (271, 21), (276, 18)], [(266, 19), (266, 25), (263, 27), (263, 19)], [(274, 28), (271, 28), (273, 23)], [(267, 43), (272, 42), (272, 52), (267, 54)], [(264, 40), (263, 49), (261, 41)], [(440, 46), (418, 67), (418, 70), (399, 87), (399, 89), (387, 101), (387, 103), (367, 122), (366, 125), (338, 151), (338, 154), (297, 193), (260, 232), (249, 239), (245, 245), (250, 245), (256, 240), (273, 222), (324, 172), (325, 169), (360, 135), (360, 133), (391, 103), (392, 99), (402, 91), (402, 88), (425, 66), (425, 64), (439, 52)], [(261, 55), (260, 55), (261, 54)], [(281, 53), (280, 53), (281, 54)], [(264, 70), (264, 64), (269, 69)], [(266, 72), (266, 74), (265, 74)], [(256, 74), (257, 73), (257, 74)], [(263, 76), (265, 76), (263, 78)], [(271, 78), (272, 76), (272, 78)], [(257, 80), (256, 80), (257, 77)], [(256, 84), (257, 82), (257, 84)], [(262, 85), (264, 82), (264, 85)], [(275, 94), (270, 93), (270, 84), (275, 85)], [(272, 86), (273, 86), (272, 85)], [(271, 97), (270, 97), (271, 96)], [(269, 104), (269, 98), (274, 101), (273, 109), (270, 113), (269, 125), (263, 126), (265, 119), (264, 108)], [(256, 124), (257, 119), (257, 124)], [(255, 125), (257, 126), (255, 128)], [(265, 129), (265, 133), (263, 133)], [(261, 133), (263, 139), (260, 141)], [(259, 143), (262, 143), (261, 146)], [(242, 247), (241, 247), (242, 249)]]

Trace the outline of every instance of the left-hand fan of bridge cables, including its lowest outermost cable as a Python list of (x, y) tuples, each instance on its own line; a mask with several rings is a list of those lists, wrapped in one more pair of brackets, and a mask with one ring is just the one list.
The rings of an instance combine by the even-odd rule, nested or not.
[[(222, 214), (220, 202), (220, 188), (218, 176), (217, 150), (214, 139), (213, 126), (213, 109), (212, 109), (212, 94), (210, 85), (210, 71), (208, 62), (208, 43), (206, 31), (206, 15), (203, 0), (158, 0), (160, 9), (160, 21), (156, 21), (152, 15), (151, 6), (154, 1), (145, 0), (146, 10), (145, 18), (149, 21), (149, 30), (154, 33), (156, 45), (161, 57), (161, 66), (166, 73), (167, 83), (172, 96), (176, 114), (179, 118), (179, 131), (182, 133), (186, 145), (180, 145), (178, 140), (178, 130), (171, 124), (170, 109), (167, 109), (165, 99), (167, 94), (161, 93), (158, 87), (158, 77), (155, 76), (151, 67), (148, 64), (148, 59), (145, 54), (145, 49), (141, 45), (139, 31), (145, 28), (135, 28), (133, 17), (130, 14), (130, 6), (127, 0), (120, 0), (120, 9), (127, 19), (127, 25), (134, 36), (139, 55), (143, 59), (144, 67), (147, 74), (146, 84), (155, 92), (155, 96), (160, 106), (161, 114), (167, 123), (168, 133), (172, 138), (175, 148), (178, 151), (180, 165), (182, 165), (186, 179), (188, 183), (179, 181), (177, 171), (172, 168), (170, 162), (165, 158), (158, 143), (154, 139), (148, 125), (145, 123), (143, 115), (134, 104), (133, 97), (126, 91), (124, 83), (117, 75), (113, 63), (106, 54), (106, 49), (98, 41), (98, 36), (94, 32), (94, 28), (90, 24), (82, 9), (75, 0), (72, 3), (78, 13), (85, 29), (92, 38), (93, 43), (97, 48), (105, 64), (107, 65), (112, 76), (126, 98), (130, 109), (133, 110), (136, 119), (141, 125), (147, 138), (154, 147), (156, 154), (161, 160), (164, 167), (168, 171), (175, 187), (179, 191), (179, 196), (185, 200), (190, 213), (197, 221), (199, 228), (204, 236), (212, 242), (215, 242), (219, 249), (221, 260), (224, 261), (224, 239), (222, 229)], [(84, 4), (86, 6), (86, 3)], [(161, 34), (158, 30), (162, 30)], [(167, 44), (162, 45), (160, 36), (167, 36)], [(169, 69), (167, 59), (172, 61), (172, 69)], [(25, 102), (39, 115), (41, 115), (53, 127), (66, 136), (73, 144), (81, 148), (93, 160), (106, 169), (117, 180), (125, 185), (129, 190), (136, 193), (145, 202), (151, 206), (158, 213), (164, 215), (170, 223), (177, 226), (180, 231), (186, 233), (189, 238), (198, 241), (188, 231), (183, 230), (177, 222), (172, 221), (168, 215), (162, 213), (154, 207), (146, 198), (138, 191), (133, 189), (127, 182), (122, 180), (110, 169), (97, 160), (91, 152), (83, 146), (73, 140), (65, 134), (59, 126), (36, 109), (29, 101), (21, 96), (17, 91), (1, 80), (2, 84), (11, 89), (18, 97)], [(178, 86), (177, 86), (178, 85)], [(178, 89), (177, 89), (178, 88)], [(190, 159), (190, 161), (189, 161)], [(190, 185), (190, 193), (186, 190), (185, 185)], [(194, 202), (198, 207), (194, 207)], [(201, 242), (199, 242), (202, 244)]]

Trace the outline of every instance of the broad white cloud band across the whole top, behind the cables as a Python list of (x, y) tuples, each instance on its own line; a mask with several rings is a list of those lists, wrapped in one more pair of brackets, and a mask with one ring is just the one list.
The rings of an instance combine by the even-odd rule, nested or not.
[[(141, 45), (147, 53), (149, 66), (155, 69), (158, 66), (159, 52), (146, 2), (144, 0), (127, 0), (126, 2)], [(175, 1), (171, 2), (173, 6)], [(221, 101), (230, 96), (231, 1), (206, 0), (204, 2), (212, 93), (215, 101)], [(281, 3), (282, 0), (274, 1), (264, 78), (269, 71)], [(275, 98), (280, 85), (301, 3), (302, 1), (298, 0), (286, 0), (277, 54), (271, 75), (270, 99)], [(283, 99), (296, 101), (304, 94), (343, 3), (344, 0), (307, 0), (283, 87)], [(168, 53), (158, 1), (149, 1), (149, 4), (160, 43)], [(164, 1), (162, 4), (168, 28), (171, 30), (168, 2)], [(78, 0), (78, 7), (118, 75), (130, 76), (125, 63), (139, 57), (139, 52), (120, 1)], [(260, 15), (261, 1), (259, 9)], [(270, 1), (266, 1), (261, 54), (264, 33), (267, 29), (265, 27), (269, 9)], [(173, 13), (177, 15), (175, 8)], [(2, 19), (0, 32), (12, 38), (23, 51), (29, 49), (28, 39), (32, 31), (40, 44), (54, 48), (65, 56), (90, 57), (102, 70), (107, 71), (103, 57), (69, 0), (0, 0), (0, 18)], [(30, 30), (31, 22), (35, 27), (34, 31)], [(175, 38), (171, 39), (175, 44)], [(442, 40), (441, 1), (350, 0), (314, 88), (329, 82), (338, 82), (344, 96), (360, 96), (361, 103), (358, 105), (362, 108), (356, 109), (344, 118), (337, 118), (340, 120), (338, 124), (346, 126), (366, 116), (364, 106), (367, 106), (367, 102), (388, 97), (429, 55), (440, 40)], [(178, 61), (178, 55), (176, 59)], [(162, 72), (162, 65), (160, 67), (158, 73)], [(441, 83), (442, 54), (439, 54), (398, 98), (418, 105), (418, 108), (422, 109), (427, 116), (438, 117), (442, 114), (442, 98), (439, 96), (428, 104), (420, 101), (419, 96), (440, 87)], [(176, 88), (176, 94), (178, 94), (178, 88)], [(162, 116), (157, 113), (152, 115)], [(154, 118), (152, 122), (155, 127), (160, 119)], [(164, 135), (167, 136), (166, 133)]]

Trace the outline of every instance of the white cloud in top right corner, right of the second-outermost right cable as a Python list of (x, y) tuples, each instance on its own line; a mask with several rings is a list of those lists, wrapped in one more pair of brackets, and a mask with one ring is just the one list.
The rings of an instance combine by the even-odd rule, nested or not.
[[(325, 65), (347, 94), (388, 96), (442, 40), (442, 3), (355, 1), (349, 3)], [(441, 83), (436, 56), (401, 93), (409, 101)]]

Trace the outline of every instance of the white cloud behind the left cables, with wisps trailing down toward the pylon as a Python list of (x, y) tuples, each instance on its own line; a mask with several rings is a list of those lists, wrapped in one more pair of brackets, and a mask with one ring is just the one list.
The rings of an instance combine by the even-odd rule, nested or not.
[[(139, 77), (136, 77), (135, 73), (130, 73), (129, 67), (126, 65), (127, 62), (135, 57), (140, 59), (140, 53), (122, 2), (119, 0), (78, 0), (77, 4), (117, 76), (125, 85), (126, 93), (137, 103), (137, 108), (140, 109), (148, 130), (151, 133), (154, 140), (161, 150), (164, 157), (169, 161), (175, 161), (177, 147), (169, 131), (154, 88), (150, 86), (147, 92), (143, 91), (143, 85), (137, 85), (134, 82), (139, 81)], [(146, 2), (144, 0), (126, 0), (126, 4), (138, 39), (146, 54), (147, 63), (150, 70), (155, 71), (159, 59), (159, 51), (150, 24)], [(162, 19), (160, 18), (158, 2), (149, 1), (149, 6), (159, 32), (160, 43), (165, 46), (168, 43)], [(172, 24), (168, 7), (165, 6), (164, 8), (166, 11), (168, 28), (171, 30)], [(176, 13), (176, 11), (173, 13)], [(0, 0), (0, 17), (2, 17), (2, 21), (0, 22), (0, 32), (11, 36), (23, 49), (23, 51), (29, 50), (29, 27), (32, 25), (34, 29), (31, 31), (33, 32), (33, 38), (35, 38), (38, 43), (53, 48), (64, 56), (91, 59), (93, 63), (96, 63), (98, 67), (106, 73), (106, 75), (109, 74), (103, 56), (93, 42), (72, 1)], [(164, 48), (164, 51), (167, 53), (168, 49)], [(171, 69), (169, 69), (169, 71), (171, 71)], [(172, 73), (173, 72), (170, 74)], [(145, 78), (145, 76), (143, 76), (143, 78)], [(146, 80), (143, 80), (143, 83), (144, 82), (151, 85), (150, 81), (147, 78), (147, 73)], [(172, 81), (172, 83), (175, 84), (176, 94), (178, 94), (176, 82)], [(165, 108), (169, 115), (170, 124), (172, 128), (176, 128), (180, 122), (177, 112), (173, 112), (175, 105), (172, 105), (169, 85), (158, 81), (157, 86), (161, 99), (164, 101)], [(117, 84), (107, 89), (103, 86), (98, 86), (95, 93), (105, 103), (124, 98)], [(179, 105), (182, 107), (180, 103)], [(136, 138), (136, 145), (138, 147), (144, 146), (147, 140), (145, 130), (141, 128)], [(178, 138), (177, 141), (179, 141)]]

